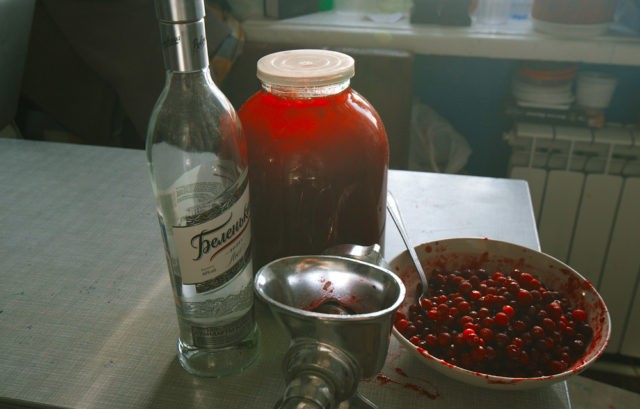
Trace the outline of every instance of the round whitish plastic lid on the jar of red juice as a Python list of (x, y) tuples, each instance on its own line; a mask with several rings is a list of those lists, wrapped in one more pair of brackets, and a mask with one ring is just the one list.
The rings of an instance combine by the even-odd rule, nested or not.
[(323, 86), (355, 74), (352, 57), (329, 50), (289, 50), (258, 60), (258, 79), (274, 86)]

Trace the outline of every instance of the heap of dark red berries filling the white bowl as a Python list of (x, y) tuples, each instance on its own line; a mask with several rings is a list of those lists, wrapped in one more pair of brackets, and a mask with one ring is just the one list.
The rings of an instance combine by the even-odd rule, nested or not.
[(529, 378), (564, 372), (582, 358), (593, 338), (587, 318), (565, 294), (519, 269), (434, 270), (428, 298), (398, 312), (394, 325), (452, 365)]

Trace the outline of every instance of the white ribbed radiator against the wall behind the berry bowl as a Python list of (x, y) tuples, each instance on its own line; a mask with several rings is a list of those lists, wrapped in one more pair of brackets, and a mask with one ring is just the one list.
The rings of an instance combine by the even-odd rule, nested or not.
[(604, 298), (606, 352), (640, 357), (640, 131), (517, 123), (505, 140), (509, 177), (529, 183), (542, 251)]

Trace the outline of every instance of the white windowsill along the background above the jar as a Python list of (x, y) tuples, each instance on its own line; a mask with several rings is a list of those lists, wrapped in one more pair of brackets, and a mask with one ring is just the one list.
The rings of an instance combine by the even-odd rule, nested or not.
[(534, 31), (530, 20), (496, 27), (412, 25), (403, 17), (374, 22), (357, 13), (327, 11), (286, 20), (249, 19), (247, 41), (310, 47), (387, 48), (415, 54), (640, 66), (640, 37), (607, 33), (557, 38)]

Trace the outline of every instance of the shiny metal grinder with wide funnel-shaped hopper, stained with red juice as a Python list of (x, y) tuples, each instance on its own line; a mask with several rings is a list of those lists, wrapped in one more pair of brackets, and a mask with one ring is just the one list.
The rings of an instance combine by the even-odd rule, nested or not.
[(350, 257), (294, 256), (256, 274), (255, 289), (291, 335), (280, 408), (375, 408), (357, 394), (384, 365), (405, 288), (391, 271)]

